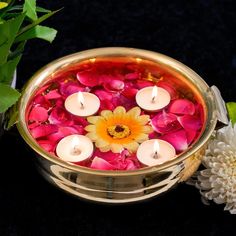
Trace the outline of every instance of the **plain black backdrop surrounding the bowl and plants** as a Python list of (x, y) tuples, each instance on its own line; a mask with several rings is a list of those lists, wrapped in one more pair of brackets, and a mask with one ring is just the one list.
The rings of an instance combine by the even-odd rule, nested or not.
[[(38, 1), (64, 9), (45, 22), (58, 29), (52, 45), (28, 43), (18, 88), (48, 62), (77, 51), (125, 46), (157, 51), (217, 85), (236, 101), (234, 1)], [(57, 190), (36, 171), (33, 152), (16, 129), (0, 142), (0, 235), (236, 235), (222, 205), (205, 206), (185, 184), (154, 200), (127, 206), (86, 203)], [(5, 154), (6, 153), (6, 154)]]

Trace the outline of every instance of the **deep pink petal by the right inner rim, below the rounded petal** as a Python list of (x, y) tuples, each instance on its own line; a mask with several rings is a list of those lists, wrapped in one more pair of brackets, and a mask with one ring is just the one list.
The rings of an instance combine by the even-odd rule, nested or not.
[(199, 130), (202, 127), (200, 118), (192, 115), (183, 115), (178, 117), (179, 123), (185, 130)]

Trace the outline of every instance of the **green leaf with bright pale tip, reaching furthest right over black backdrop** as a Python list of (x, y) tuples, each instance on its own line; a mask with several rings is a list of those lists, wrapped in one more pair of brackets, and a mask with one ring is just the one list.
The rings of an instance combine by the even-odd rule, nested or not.
[(49, 41), (50, 43), (54, 40), (56, 37), (57, 31), (55, 29), (37, 25), (30, 30), (24, 32), (23, 34), (19, 35), (15, 42), (25, 41), (32, 38), (40, 38), (44, 39), (46, 41)]

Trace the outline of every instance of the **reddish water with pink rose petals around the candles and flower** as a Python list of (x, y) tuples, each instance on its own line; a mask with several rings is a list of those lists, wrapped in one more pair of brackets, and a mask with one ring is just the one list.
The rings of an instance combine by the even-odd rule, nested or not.
[[(160, 138), (171, 143), (177, 154), (188, 149), (200, 136), (204, 124), (204, 104), (196, 89), (184, 77), (169, 68), (153, 62), (133, 58), (103, 58), (87, 60), (70, 66), (51, 76), (34, 94), (28, 105), (27, 121), (31, 135), (46, 151), (56, 155), (57, 143), (71, 134), (86, 135), (88, 121), (65, 110), (65, 99), (78, 91), (96, 94), (102, 110), (113, 111), (123, 106), (126, 111), (137, 106), (138, 90), (157, 85), (171, 95), (170, 104), (158, 112), (142, 111), (150, 116), (148, 125), (154, 128), (149, 139)], [(110, 170), (132, 170), (144, 167), (135, 152), (100, 152), (82, 163), (91, 167), (99, 156), (109, 164)], [(92, 165), (92, 168), (97, 168)]]

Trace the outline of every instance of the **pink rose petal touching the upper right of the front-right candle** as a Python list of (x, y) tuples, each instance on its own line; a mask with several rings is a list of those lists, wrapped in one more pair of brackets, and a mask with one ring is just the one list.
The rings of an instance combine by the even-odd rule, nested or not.
[(188, 148), (187, 135), (185, 130), (178, 130), (161, 136), (161, 139), (172, 144), (176, 152), (182, 152)]

